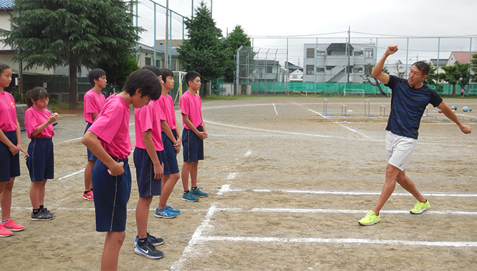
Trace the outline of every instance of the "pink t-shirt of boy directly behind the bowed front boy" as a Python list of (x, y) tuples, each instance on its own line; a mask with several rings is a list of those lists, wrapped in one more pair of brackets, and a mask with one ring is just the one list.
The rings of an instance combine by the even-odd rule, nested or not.
[(134, 110), (134, 129), (136, 133), (136, 143), (134, 147), (146, 150), (146, 145), (144, 144), (144, 140), (142, 140), (142, 133), (151, 129), (151, 137), (156, 151), (160, 152), (164, 150), (161, 139), (161, 119), (166, 118), (156, 100), (152, 100), (149, 102), (149, 105)]

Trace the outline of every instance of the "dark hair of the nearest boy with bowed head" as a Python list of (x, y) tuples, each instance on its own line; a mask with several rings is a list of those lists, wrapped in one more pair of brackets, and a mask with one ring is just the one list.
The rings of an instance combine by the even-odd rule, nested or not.
[(151, 100), (157, 100), (161, 97), (161, 82), (154, 72), (140, 69), (129, 74), (126, 84), (124, 84), (123, 91), (127, 91), (130, 96), (133, 96), (137, 89), (141, 89), (141, 97), (149, 95)]

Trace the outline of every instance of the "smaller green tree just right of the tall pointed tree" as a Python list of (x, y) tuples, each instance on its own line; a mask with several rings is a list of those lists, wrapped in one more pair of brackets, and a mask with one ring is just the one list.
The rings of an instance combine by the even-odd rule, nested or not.
[[(237, 50), (243, 46), (241, 50), (241, 58), (240, 60), (235, 60), (235, 56), (237, 55)], [(255, 58), (255, 52), (253, 48), (251, 48), (252, 42), (250, 41), (250, 37), (245, 33), (240, 25), (236, 25), (234, 30), (229, 34), (229, 37), (224, 41), (224, 48), (226, 50), (226, 67), (224, 73), (224, 81), (233, 83), (234, 82), (234, 74), (236, 72), (236, 63), (239, 61), (241, 64), (240, 67), (240, 74), (243, 76), (247, 76), (246, 73), (246, 64), (248, 59), (248, 65), (253, 65), (253, 60)]]

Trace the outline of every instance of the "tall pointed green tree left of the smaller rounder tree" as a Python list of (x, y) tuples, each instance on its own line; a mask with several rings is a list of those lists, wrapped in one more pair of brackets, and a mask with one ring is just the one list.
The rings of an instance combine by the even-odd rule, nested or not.
[(179, 61), (185, 70), (201, 74), (201, 97), (206, 97), (208, 82), (222, 77), (225, 70), (222, 30), (215, 26), (212, 13), (203, 1), (196, 8), (196, 16), (185, 20), (185, 26), (189, 39), (177, 49)]

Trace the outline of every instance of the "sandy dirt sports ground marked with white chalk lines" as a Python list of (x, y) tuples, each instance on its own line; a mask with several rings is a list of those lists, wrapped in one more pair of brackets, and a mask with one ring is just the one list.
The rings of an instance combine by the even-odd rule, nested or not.
[[(370, 98), (366, 115), (376, 116), (370, 117), (365, 100), (205, 100), (209, 137), (199, 186), (209, 197), (182, 201), (179, 180), (168, 205), (180, 216), (149, 216), (150, 233), (166, 240), (158, 247), (164, 258), (135, 255), (138, 193), (130, 156), (133, 191), (119, 270), (477, 270), (477, 112), (462, 112), (464, 105), (477, 110), (477, 100), (445, 100), (458, 107), (471, 135), (431, 105), (422, 119), (406, 173), (432, 209), (411, 215), (415, 199), (396, 186), (381, 223), (362, 227), (358, 220), (384, 183), (382, 106), (389, 114), (390, 103)], [(344, 105), (349, 116), (342, 116)], [(79, 142), (83, 116), (62, 114), (58, 123), (55, 179), (48, 181), (45, 199), (56, 217), (29, 220), (30, 181), (21, 161), (11, 213), (25, 230), (0, 239), (3, 270), (100, 269), (105, 234), (95, 232), (94, 205), (81, 198), (83, 173), (77, 173), (86, 166)], [(134, 126), (130, 135), (134, 141)], [(26, 149), (25, 132), (22, 142)], [(182, 152), (178, 159), (181, 167)], [(151, 208), (157, 204), (159, 198)]]

